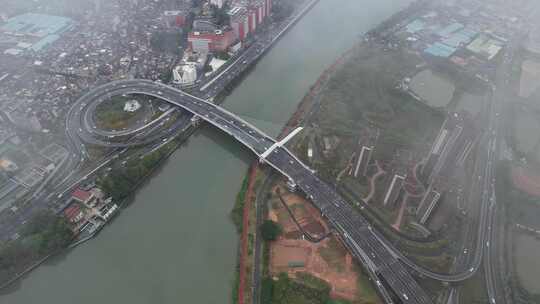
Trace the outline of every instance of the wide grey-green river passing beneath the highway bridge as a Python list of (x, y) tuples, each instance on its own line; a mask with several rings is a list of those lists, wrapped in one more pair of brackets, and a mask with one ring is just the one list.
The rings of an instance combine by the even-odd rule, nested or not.
[[(322, 0), (224, 106), (276, 135), (327, 66), (410, 2)], [(101, 234), (30, 273), (0, 303), (229, 303), (238, 245), (229, 212), (253, 160), (204, 128)]]

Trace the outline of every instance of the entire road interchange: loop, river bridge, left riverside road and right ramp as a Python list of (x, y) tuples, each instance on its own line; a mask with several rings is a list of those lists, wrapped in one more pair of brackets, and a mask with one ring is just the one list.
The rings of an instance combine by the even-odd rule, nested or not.
[[(35, 199), (46, 201), (53, 195), (58, 196), (58, 198), (63, 197), (75, 185), (84, 181), (97, 170), (107, 166), (112, 160), (120, 157), (129, 147), (158, 147), (163, 142), (186, 130), (192, 122), (192, 114), (195, 119), (202, 119), (219, 128), (241, 142), (258, 157), (261, 157), (275, 143), (275, 140), (235, 114), (207, 100), (221, 92), (232, 79), (236, 78), (247, 66), (256, 61), (287, 29), (288, 27), (285, 27), (276, 29), (274, 33), (268, 33), (267, 37), (257, 40), (258, 42), (253, 43), (238, 57), (233, 58), (232, 64), (219, 71), (217, 77), (205, 80), (195, 89), (194, 94), (200, 97), (161, 83), (140, 79), (111, 82), (84, 94), (75, 102), (66, 118), (66, 137), (69, 140), (70, 157), (51, 182), (54, 187), (51, 187), (49, 191), (38, 194)], [(96, 128), (90, 117), (97, 105), (112, 96), (129, 94), (152, 96), (168, 102), (176, 106), (176, 108), (181, 108), (186, 113), (181, 115), (181, 118), (168, 128), (159, 128), (160, 125), (157, 124), (167, 115), (136, 130), (106, 132)], [(495, 109), (496, 107), (492, 106), (489, 119), (490, 130), (498, 128)], [(172, 112), (170, 111), (168, 114)], [(488, 133), (484, 139), (486, 144), (480, 145), (486, 147), (487, 153), (485, 155), (487, 157), (481, 160), (480, 165), (483, 171), (483, 191), (474, 255), (466, 267), (452, 274), (432, 272), (404, 256), (379, 232), (375, 231), (369, 222), (354, 210), (332, 187), (320, 180), (313, 170), (304, 165), (286, 147), (277, 147), (265, 159), (261, 159), (261, 162), (268, 164), (291, 182), (294, 182), (298, 189), (321, 210), (335, 231), (340, 234), (351, 253), (368, 270), (369, 276), (375, 282), (386, 303), (395, 303), (395, 297), (402, 303), (432, 303), (431, 298), (413, 279), (409, 273), (410, 271), (438, 281), (460, 282), (475, 275), (476, 271), (482, 267), (482, 257), (484, 255), (486, 256), (484, 268), (490, 302), (492, 304), (504, 303), (504, 297), (496, 294), (496, 283), (493, 282), (496, 278), (494, 279), (492, 274), (496, 271), (496, 268), (491, 261), (492, 257), (489, 248), (490, 239), (496, 237), (492, 229), (496, 202), (492, 164), (497, 157), (497, 137), (496, 132)], [(88, 157), (86, 151), (88, 144), (112, 148), (112, 151), (99, 161), (100, 164), (97, 167), (85, 168), (84, 161)], [(35, 205), (46, 206), (46, 204)], [(21, 221), (27, 218), (26, 215), (32, 211), (32, 209), (28, 209), (21, 214), (19, 217)], [(13, 232), (7, 230), (8, 234)], [(391, 293), (395, 296), (392, 296)]]

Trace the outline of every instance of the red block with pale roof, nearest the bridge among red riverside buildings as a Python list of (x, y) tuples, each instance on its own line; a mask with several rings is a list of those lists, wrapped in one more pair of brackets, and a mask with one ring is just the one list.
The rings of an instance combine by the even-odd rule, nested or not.
[(188, 35), (189, 47), (200, 53), (224, 52), (234, 41), (234, 33), (229, 29), (213, 32), (191, 32)]

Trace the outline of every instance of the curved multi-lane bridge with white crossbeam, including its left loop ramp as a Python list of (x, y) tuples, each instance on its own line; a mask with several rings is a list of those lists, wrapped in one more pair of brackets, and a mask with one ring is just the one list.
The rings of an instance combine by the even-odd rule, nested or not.
[(85, 109), (95, 108), (91, 106), (92, 103), (121, 94), (153, 96), (178, 106), (232, 136), (250, 149), (261, 162), (287, 177), (289, 185), (304, 192), (340, 234), (351, 254), (365, 267), (386, 303), (432, 303), (405, 265), (420, 274), (442, 281), (458, 281), (473, 274), (472, 271), (453, 275), (438, 274), (416, 265), (375, 231), (361, 214), (319, 179), (283, 142), (276, 142), (255, 126), (213, 103), (170, 86), (148, 80), (125, 80), (97, 87), (82, 96), (70, 111), (66, 122), (68, 130), (71, 130), (70, 136), (78, 136), (82, 142), (109, 147), (147, 144), (148, 140), (144, 138), (112, 142), (100, 138), (92, 128), (88, 129), (84, 125)]

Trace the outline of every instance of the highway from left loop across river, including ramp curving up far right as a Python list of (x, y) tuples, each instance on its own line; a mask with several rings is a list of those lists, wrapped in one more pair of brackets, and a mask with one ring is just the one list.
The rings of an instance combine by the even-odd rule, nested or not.
[[(232, 136), (253, 151), (259, 158), (275, 144), (274, 139), (235, 114), (202, 98), (148, 80), (111, 82), (82, 96), (77, 101), (80, 105), (73, 107), (78, 108), (81, 112), (72, 112), (67, 122), (68, 130), (78, 130), (72, 134), (77, 138), (74, 140), (75, 142), (80, 142), (81, 146), (84, 146), (85, 143), (91, 143), (120, 148), (145, 145), (155, 141), (156, 136), (163, 136), (163, 133), (158, 132), (157, 134), (150, 134), (149, 137), (136, 136), (128, 141), (122, 141), (122, 138), (115, 141), (116, 138), (100, 138), (99, 134), (93, 131), (93, 128), (88, 128), (89, 126), (84, 124), (84, 117), (88, 115), (86, 111), (95, 108), (90, 106), (92, 103), (100, 102), (103, 96), (121, 94), (153, 96), (178, 106), (194, 114), (198, 119), (202, 119)], [(496, 115), (493, 114), (493, 116)], [(445, 282), (466, 280), (472, 277), (482, 266), (483, 254), (486, 248), (489, 247), (489, 241), (486, 240), (488, 240), (488, 232), (491, 231), (491, 215), (494, 202), (492, 195), (494, 187), (492, 180), (492, 164), (495, 155), (494, 134), (489, 132), (484, 137), (485, 144), (481, 145), (486, 148), (487, 157), (481, 160), (482, 188), (484, 190), (481, 195), (478, 235), (476, 236), (474, 255), (467, 269), (453, 274), (432, 272), (404, 256), (390, 242), (385, 240), (380, 233), (372, 229), (367, 220), (358, 214), (350, 204), (345, 202), (333, 188), (321, 181), (313, 170), (304, 165), (287, 148), (277, 147), (261, 161), (267, 163), (296, 184), (312, 200), (313, 204), (321, 210), (322, 214), (340, 233), (353, 255), (372, 272), (373, 279), (383, 297), (387, 293), (385, 287), (388, 287), (403, 303), (430, 303), (431, 299), (410, 276), (404, 265), (418, 274)], [(84, 153), (84, 150), (81, 151)], [(386, 302), (392, 302), (389, 294), (386, 298)]]

